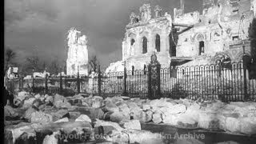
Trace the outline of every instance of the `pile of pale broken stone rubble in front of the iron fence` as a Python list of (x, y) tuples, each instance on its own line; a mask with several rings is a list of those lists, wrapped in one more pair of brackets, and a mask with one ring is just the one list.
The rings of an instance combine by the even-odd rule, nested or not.
[(37, 140), (47, 144), (101, 139), (121, 143), (163, 143), (161, 134), (142, 130), (141, 123), (146, 122), (256, 134), (255, 102), (225, 104), (121, 96), (104, 99), (82, 94), (63, 97), (26, 92), (20, 92), (14, 101), (18, 108), (5, 106), (5, 141)]

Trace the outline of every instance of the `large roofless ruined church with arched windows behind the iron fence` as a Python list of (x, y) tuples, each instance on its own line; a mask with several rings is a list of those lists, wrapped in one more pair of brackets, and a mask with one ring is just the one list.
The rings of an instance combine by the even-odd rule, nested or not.
[(203, 0), (202, 13), (187, 14), (184, 0), (180, 2), (173, 18), (159, 6), (151, 14), (149, 4), (140, 7), (139, 15), (130, 14), (122, 42), (122, 66), (127, 70), (145, 69), (153, 52), (162, 67), (169, 67), (170, 62), (191, 63), (204, 56), (237, 62), (242, 59), (242, 46), (251, 57), (248, 29), (255, 18), (256, 0)]

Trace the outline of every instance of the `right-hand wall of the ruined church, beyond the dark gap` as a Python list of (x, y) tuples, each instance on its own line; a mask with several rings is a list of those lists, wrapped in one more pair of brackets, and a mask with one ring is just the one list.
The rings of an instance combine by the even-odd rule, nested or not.
[[(234, 1), (235, 2), (235, 1)], [(234, 9), (238, 13), (234, 13)], [(248, 28), (253, 19), (250, 1), (238, 2), (238, 6), (230, 1), (218, 2), (203, 10), (201, 16), (197, 11), (174, 18), (175, 23), (193, 23), (194, 28), (178, 37), (177, 56), (197, 58), (202, 54), (215, 55), (227, 53), (232, 61), (240, 59), (242, 41), (248, 39)], [(200, 52), (200, 42), (203, 50)], [(246, 42), (246, 54), (250, 56), (250, 45)]]

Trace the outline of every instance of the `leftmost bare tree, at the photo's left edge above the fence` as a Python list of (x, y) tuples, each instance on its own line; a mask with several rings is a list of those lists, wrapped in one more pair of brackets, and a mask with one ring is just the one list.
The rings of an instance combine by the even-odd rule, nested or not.
[(6, 48), (5, 51), (5, 68), (4, 73), (6, 75), (6, 71), (8, 70), (9, 66), (14, 64), (14, 58), (16, 58), (17, 54), (14, 52), (14, 50), (11, 50), (10, 48)]

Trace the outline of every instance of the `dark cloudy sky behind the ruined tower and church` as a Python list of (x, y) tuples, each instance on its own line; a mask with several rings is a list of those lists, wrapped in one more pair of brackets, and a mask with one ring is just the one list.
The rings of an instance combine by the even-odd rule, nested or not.
[[(5, 0), (5, 45), (18, 62), (38, 54), (46, 62), (66, 61), (66, 33), (76, 27), (89, 38), (89, 57), (103, 67), (122, 59), (122, 38), (132, 11), (143, 3), (173, 14), (179, 0)], [(185, 0), (186, 12), (201, 10), (202, 0)]]

